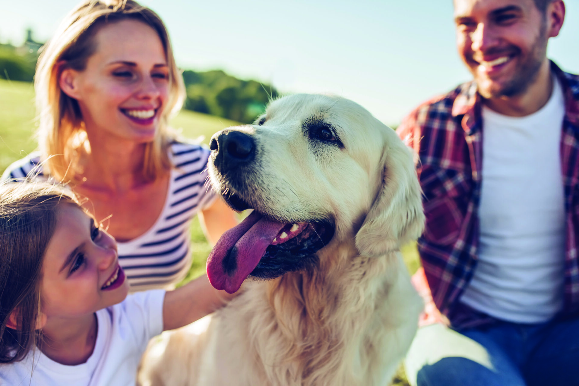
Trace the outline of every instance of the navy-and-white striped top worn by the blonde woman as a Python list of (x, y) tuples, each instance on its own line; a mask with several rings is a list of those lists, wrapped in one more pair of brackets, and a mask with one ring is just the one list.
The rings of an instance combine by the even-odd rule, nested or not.
[[(197, 211), (208, 207), (215, 198), (205, 185), (210, 150), (174, 142), (169, 151), (174, 167), (159, 218), (141, 236), (118, 243), (119, 263), (131, 291), (167, 288), (185, 277), (191, 263), (190, 222)], [(31, 153), (10, 165), (2, 179), (18, 181), (31, 171), (38, 174), (38, 179), (46, 179), (39, 163), (39, 154)]]

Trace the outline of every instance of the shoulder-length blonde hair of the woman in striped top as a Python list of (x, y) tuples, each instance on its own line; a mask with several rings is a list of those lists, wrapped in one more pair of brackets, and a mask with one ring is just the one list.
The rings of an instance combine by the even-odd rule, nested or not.
[[(65, 17), (53, 38), (43, 47), (36, 67), (38, 143), (46, 160), (44, 167), (57, 181), (74, 178), (80, 171), (79, 150), (88, 148), (78, 101), (60, 89), (58, 78), (65, 68), (76, 71), (86, 68), (87, 60), (96, 51), (94, 36), (98, 28), (127, 19), (141, 21), (159, 34), (169, 69), (169, 97), (160, 116), (157, 135), (145, 145), (142, 177), (152, 181), (171, 167), (167, 148), (173, 135), (168, 120), (181, 109), (185, 86), (175, 64), (167, 28), (155, 12), (133, 0), (89, 0), (80, 3)], [(58, 156), (50, 157), (53, 155)]]

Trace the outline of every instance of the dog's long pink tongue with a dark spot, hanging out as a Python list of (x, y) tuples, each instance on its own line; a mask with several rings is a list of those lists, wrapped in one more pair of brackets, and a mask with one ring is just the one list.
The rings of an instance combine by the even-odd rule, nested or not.
[(284, 225), (253, 211), (239, 225), (223, 233), (207, 258), (211, 285), (236, 292)]

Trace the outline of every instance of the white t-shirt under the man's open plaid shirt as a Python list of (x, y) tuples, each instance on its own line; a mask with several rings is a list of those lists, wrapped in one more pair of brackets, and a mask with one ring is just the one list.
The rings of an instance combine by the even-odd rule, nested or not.
[(511, 322), (547, 321), (563, 302), (565, 101), (553, 83), (547, 104), (531, 115), (482, 111), (479, 259), (460, 300)]

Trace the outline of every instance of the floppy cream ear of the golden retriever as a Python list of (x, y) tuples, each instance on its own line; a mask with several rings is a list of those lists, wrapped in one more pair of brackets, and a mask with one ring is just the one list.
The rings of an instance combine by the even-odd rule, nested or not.
[(366, 256), (398, 249), (416, 240), (424, 229), (422, 190), (411, 149), (398, 137), (388, 142), (383, 154), (382, 186), (356, 234), (356, 247)]

